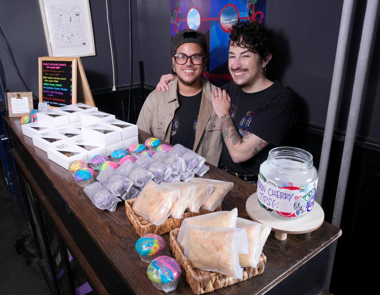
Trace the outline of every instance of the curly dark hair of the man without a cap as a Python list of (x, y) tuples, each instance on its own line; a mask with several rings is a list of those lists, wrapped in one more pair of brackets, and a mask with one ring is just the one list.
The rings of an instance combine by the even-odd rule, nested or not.
[(258, 22), (238, 20), (231, 28), (228, 44), (246, 47), (264, 59), (268, 54), (275, 53), (273, 40), (273, 31), (263, 22), (259, 24)]

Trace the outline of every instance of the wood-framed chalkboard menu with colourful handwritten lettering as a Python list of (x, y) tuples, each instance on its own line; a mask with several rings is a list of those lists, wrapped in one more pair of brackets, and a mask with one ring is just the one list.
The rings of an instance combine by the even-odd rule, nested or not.
[(76, 58), (39, 57), (38, 61), (40, 102), (52, 108), (76, 103)]

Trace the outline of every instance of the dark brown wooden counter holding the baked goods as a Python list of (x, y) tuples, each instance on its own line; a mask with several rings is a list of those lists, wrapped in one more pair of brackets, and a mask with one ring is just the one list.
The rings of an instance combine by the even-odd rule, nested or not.
[[(123, 203), (120, 202), (114, 212), (96, 208), (70, 173), (47, 159), (46, 152), (33, 146), (32, 139), (22, 134), (19, 118), (7, 117), (5, 121), (9, 126), (19, 174), (27, 180), (36, 199), (54, 221), (60, 237), (86, 273), (92, 289), (101, 294), (162, 294), (147, 278), (147, 263), (142, 262), (135, 251), (139, 236), (127, 219)], [(139, 130), (139, 142), (144, 143), (148, 137), (149, 134)], [(204, 177), (234, 182), (233, 190), (222, 203), (222, 209), (236, 207), (239, 217), (250, 219), (245, 212), (245, 201), (256, 191), (255, 186), (211, 165)], [(323, 281), (328, 257), (328, 249), (325, 248), (340, 235), (341, 230), (327, 222), (312, 233), (288, 235), (285, 241), (275, 239), (272, 232), (263, 250), (267, 257), (264, 273), (215, 290), (214, 293), (262, 294), (268, 290), (271, 293), (284, 292), (286, 288), (293, 290), (293, 293), (306, 293), (305, 289), (299, 287), (298, 292), (294, 292), (299, 277), (296, 278), (298, 283), (293, 284), (290, 280), (299, 268), (310, 268), (307, 266), (309, 260), (310, 263), (314, 261), (311, 268), (317, 267), (315, 271), (321, 272), (318, 282), (312, 280), (316, 285), (313, 290), (320, 293), (323, 287), (320, 280)], [(173, 256), (169, 249), (169, 233), (163, 238), (168, 245), (163, 254)], [(323, 249), (323, 259), (321, 254), (316, 257), (318, 259), (312, 259)], [(293, 276), (284, 280), (291, 274)], [(317, 280), (315, 274), (308, 275)], [(181, 276), (179, 286), (171, 294), (193, 294), (184, 276)]]

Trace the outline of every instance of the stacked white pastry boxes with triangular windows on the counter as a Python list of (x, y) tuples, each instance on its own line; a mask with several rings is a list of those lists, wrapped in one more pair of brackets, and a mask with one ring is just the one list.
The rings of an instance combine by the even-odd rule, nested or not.
[(115, 119), (98, 108), (76, 103), (37, 113), (37, 122), (22, 125), (22, 133), (47, 157), (65, 169), (74, 160), (89, 163), (97, 154), (111, 155), (138, 143), (137, 126)]

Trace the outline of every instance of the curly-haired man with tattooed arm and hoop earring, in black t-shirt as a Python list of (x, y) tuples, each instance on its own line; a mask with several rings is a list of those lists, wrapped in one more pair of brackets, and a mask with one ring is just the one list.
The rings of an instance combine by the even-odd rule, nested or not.
[[(296, 119), (293, 94), (265, 76), (274, 53), (273, 39), (272, 30), (263, 23), (233, 25), (228, 51), (232, 81), (211, 94), (223, 137), (220, 164), (255, 185), (269, 150), (282, 144)], [(163, 76), (157, 87), (166, 87), (163, 82), (168, 78)]]

